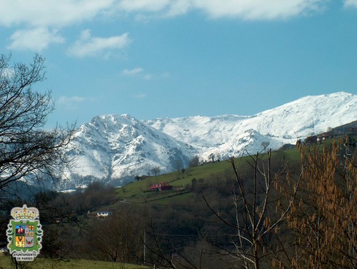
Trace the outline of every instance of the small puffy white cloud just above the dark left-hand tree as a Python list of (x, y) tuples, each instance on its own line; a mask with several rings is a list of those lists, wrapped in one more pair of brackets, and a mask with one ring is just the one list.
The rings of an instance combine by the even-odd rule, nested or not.
[(49, 31), (46, 27), (15, 31), (9, 38), (11, 44), (7, 49), (42, 51), (49, 44), (63, 43), (64, 38), (56, 30)]

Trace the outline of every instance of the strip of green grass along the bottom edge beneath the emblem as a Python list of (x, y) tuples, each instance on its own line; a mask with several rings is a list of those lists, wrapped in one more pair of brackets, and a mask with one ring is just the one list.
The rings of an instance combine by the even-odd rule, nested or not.
[[(11, 261), (9, 255), (0, 255), (0, 268), (13, 269), (16, 268), (14, 262)], [(44, 258), (35, 258), (31, 262), (22, 262), (19, 268), (29, 269), (50, 269), (50, 268), (83, 268), (83, 269), (149, 269), (149, 266), (129, 265), (126, 263), (109, 263), (99, 260), (51, 260)]]

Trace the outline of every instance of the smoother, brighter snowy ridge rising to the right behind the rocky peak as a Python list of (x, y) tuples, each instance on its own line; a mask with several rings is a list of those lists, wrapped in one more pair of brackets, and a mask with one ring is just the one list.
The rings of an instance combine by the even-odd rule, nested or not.
[(322, 133), (357, 119), (357, 96), (339, 92), (306, 96), (254, 116), (157, 118), (150, 126), (196, 147), (200, 156), (215, 153), (221, 158), (236, 156), (243, 149), (255, 152), (261, 142), (280, 148), (311, 133)]

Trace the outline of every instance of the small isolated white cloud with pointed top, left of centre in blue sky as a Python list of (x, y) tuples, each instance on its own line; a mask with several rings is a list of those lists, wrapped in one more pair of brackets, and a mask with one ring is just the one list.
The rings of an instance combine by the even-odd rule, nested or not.
[(124, 49), (130, 42), (128, 33), (103, 38), (91, 36), (91, 31), (86, 29), (81, 32), (79, 40), (69, 47), (68, 53), (76, 57), (100, 56), (114, 49)]

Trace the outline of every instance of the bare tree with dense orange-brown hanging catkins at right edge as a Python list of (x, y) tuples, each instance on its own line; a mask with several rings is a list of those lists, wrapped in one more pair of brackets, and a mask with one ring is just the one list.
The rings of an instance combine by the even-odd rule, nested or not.
[(288, 216), (301, 253), (295, 268), (357, 268), (356, 153), (340, 148), (303, 149), (302, 192)]

